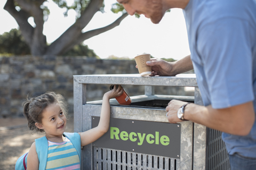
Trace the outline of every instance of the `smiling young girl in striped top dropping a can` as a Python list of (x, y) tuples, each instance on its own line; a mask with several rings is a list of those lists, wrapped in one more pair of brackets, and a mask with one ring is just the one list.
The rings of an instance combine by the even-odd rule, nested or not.
[[(81, 147), (99, 139), (109, 129), (110, 105), (109, 99), (123, 93), (121, 86), (106, 92), (102, 99), (100, 122), (96, 128), (78, 133), (77, 140), (81, 140)], [(46, 92), (36, 98), (31, 98), (23, 104), (23, 114), (27, 117), (30, 130), (44, 132), (48, 142), (46, 169), (80, 169), (80, 160), (76, 147), (66, 137), (67, 107), (64, 98), (54, 92)], [(44, 137), (43, 137), (44, 138)], [(31, 145), (27, 155), (27, 169), (38, 169), (40, 160), (36, 145)], [(80, 141), (79, 141), (80, 142)], [(79, 150), (81, 151), (81, 149)], [(80, 153), (79, 153), (80, 154)], [(24, 159), (25, 160), (25, 159)], [(39, 163), (40, 162), (40, 163)], [(41, 169), (41, 168), (40, 168)]]

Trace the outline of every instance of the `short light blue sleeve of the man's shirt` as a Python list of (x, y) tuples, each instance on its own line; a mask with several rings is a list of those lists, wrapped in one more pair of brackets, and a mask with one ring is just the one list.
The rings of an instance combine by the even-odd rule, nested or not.
[(254, 99), (250, 27), (246, 20), (222, 18), (198, 29), (197, 50), (213, 108)]

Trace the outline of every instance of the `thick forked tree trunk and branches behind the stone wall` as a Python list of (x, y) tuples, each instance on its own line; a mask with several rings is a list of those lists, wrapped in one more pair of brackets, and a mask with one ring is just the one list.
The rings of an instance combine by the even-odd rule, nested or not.
[[(82, 41), (115, 28), (127, 16), (127, 13), (124, 13), (115, 22), (106, 27), (82, 33), (82, 30), (91, 21), (93, 15), (99, 11), (103, 3), (103, 0), (91, 0), (81, 17), (50, 46), (47, 46), (46, 37), (43, 35), (44, 14), (41, 9), (44, 1), (7, 0), (4, 6), (4, 9), (17, 21), (32, 55), (62, 55)], [(18, 3), (21, 8), (20, 11), (15, 9), (14, 3)], [(28, 23), (30, 16), (34, 18), (35, 28)]]

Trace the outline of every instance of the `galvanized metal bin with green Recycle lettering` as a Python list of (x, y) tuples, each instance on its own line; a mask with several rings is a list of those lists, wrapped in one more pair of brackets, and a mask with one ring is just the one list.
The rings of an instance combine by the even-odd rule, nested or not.
[[(74, 131), (98, 125), (101, 100), (86, 102), (86, 84), (145, 86), (129, 106), (110, 99), (110, 128), (83, 147), (82, 169), (230, 169), (221, 132), (190, 121), (169, 123), (172, 99), (203, 105), (195, 74), (141, 77), (139, 74), (74, 75)], [(195, 87), (194, 96), (155, 95), (157, 86)]]

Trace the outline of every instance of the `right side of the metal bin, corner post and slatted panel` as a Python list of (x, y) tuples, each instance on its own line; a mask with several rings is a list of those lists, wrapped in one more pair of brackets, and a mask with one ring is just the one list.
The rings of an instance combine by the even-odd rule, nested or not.
[[(195, 103), (203, 105), (200, 91), (195, 87)], [(221, 132), (194, 123), (193, 169), (230, 169), (229, 158)]]

